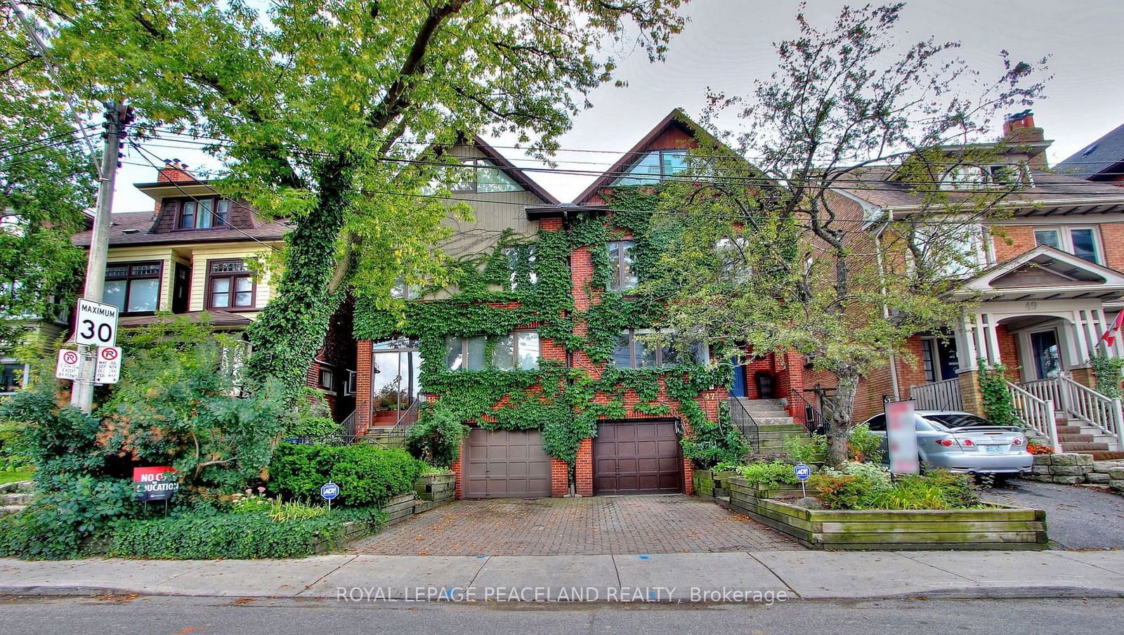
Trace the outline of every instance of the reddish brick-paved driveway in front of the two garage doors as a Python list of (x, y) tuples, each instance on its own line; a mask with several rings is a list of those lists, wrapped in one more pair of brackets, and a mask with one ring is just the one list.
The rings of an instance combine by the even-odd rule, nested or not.
[(686, 496), (457, 500), (353, 545), (381, 555), (569, 555), (799, 550)]

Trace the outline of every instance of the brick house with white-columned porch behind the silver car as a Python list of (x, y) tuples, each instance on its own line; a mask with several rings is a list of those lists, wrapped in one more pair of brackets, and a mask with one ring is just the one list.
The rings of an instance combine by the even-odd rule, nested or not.
[[(1124, 191), (1049, 171), (1045, 149), (1051, 142), (1030, 111), (1008, 117), (1004, 133), (1004, 143), (996, 146), (1005, 148), (999, 163), (949, 183), (950, 189), (970, 190), (972, 183), (1017, 179), (1017, 189), (999, 203), (1009, 215), (998, 223), (998, 232), (979, 228), (978, 273), (950, 297), (966, 302), (963, 323), (945, 333), (915, 335), (906, 343), (912, 360), (892, 355), (885, 369), (864, 377), (855, 420), (881, 412), (883, 399), (909, 397), (923, 407), (981, 412), (977, 359), (1008, 366), (1008, 379), (1016, 384), (1012, 390), (1053, 394), (1059, 411), (1064, 397), (1073, 410), (1070, 418), (1096, 418), (1076, 411), (1068, 394), (1080, 389), (1064, 388), (1064, 380), (1091, 385), (1094, 352), (1124, 356), (1121, 338), (1112, 345), (1099, 342), (1124, 307)], [(851, 246), (860, 248), (862, 242), (876, 247), (880, 221), (901, 218), (922, 201), (908, 184), (894, 180), (892, 170), (867, 170), (856, 178), (868, 182), (834, 190), (834, 206), (841, 218), (868, 221), (868, 232), (849, 237)], [(815, 383), (832, 387), (834, 380), (808, 372), (806, 384)], [(1091, 430), (1099, 425), (1108, 428)], [(1088, 427), (1098, 444), (1120, 450), (1118, 424)]]

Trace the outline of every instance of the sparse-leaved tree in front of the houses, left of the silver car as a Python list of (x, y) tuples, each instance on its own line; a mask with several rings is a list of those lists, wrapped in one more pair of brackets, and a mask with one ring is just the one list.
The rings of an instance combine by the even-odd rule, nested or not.
[[(981, 221), (1000, 217), (1018, 187), (942, 182), (1001, 153), (976, 142), (994, 135), (997, 114), (1042, 92), (1031, 80), (1044, 60), (1004, 53), (1001, 76), (985, 81), (952, 56), (955, 43), (898, 45), (901, 9), (845, 8), (822, 30), (801, 8), (771, 78), (747, 97), (709, 96), (705, 123), (741, 121), (715, 129), (735, 152), (694, 152), (691, 178), (664, 188), (662, 207), (676, 214), (662, 223), (677, 238), (668, 275), (649, 290), (670, 298), (677, 330), (754, 354), (795, 350), (834, 375), (825, 416), (835, 463), (846, 459), (860, 378), (909, 336), (954, 323), (961, 306), (944, 294), (981, 266)], [(891, 180), (919, 201), (914, 211), (888, 218), (858, 205), (856, 190)]]

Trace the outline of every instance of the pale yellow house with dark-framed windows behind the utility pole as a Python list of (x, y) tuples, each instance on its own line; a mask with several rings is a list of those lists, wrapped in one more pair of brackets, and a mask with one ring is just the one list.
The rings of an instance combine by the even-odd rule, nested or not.
[[(216, 329), (244, 330), (272, 297), (273, 274), (264, 265), (289, 227), (224, 198), (178, 163), (135, 187), (153, 199), (153, 209), (115, 212), (109, 230), (102, 301), (117, 305), (120, 326), (206, 314)], [(75, 234), (73, 243), (89, 248), (91, 234)], [(308, 385), (320, 389), (337, 420), (353, 408), (345, 383), (354, 370), (348, 308), (333, 317), (335, 328), (308, 373)]]

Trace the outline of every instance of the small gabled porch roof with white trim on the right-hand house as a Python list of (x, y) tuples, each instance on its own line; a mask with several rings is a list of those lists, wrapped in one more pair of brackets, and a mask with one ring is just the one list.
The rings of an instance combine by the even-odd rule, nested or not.
[[(1045, 275), (1027, 276), (1041, 271)], [(1035, 279), (1036, 278), (1036, 279)], [(1006, 279), (1006, 281), (1005, 281)], [(984, 296), (989, 300), (1117, 298), (1124, 273), (1039, 245), (966, 280), (953, 297)]]

